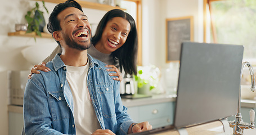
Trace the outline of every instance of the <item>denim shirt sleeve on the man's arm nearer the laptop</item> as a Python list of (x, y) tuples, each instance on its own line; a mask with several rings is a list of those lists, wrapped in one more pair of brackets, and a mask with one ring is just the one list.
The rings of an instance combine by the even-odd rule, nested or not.
[(123, 106), (122, 99), (120, 97), (120, 82), (117, 82), (114, 85), (114, 94), (115, 94), (115, 113), (116, 113), (116, 121), (118, 123), (118, 134), (127, 134), (128, 129), (132, 123), (135, 123), (130, 115), (127, 113), (127, 107)]

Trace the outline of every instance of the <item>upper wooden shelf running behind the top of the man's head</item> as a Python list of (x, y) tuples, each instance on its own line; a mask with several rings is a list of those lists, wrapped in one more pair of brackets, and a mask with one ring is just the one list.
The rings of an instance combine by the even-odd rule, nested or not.
[[(40, 0), (42, 1), (42, 0)], [(51, 3), (62, 3), (65, 2), (66, 0), (43, 0), (44, 2), (51, 2)], [(96, 9), (96, 10), (105, 10), (105, 11), (109, 11), (109, 10), (113, 10), (113, 9), (120, 9), (120, 10), (125, 10), (124, 8), (120, 8), (120, 7), (114, 7), (114, 6), (110, 6), (107, 4), (100, 4), (100, 3), (95, 3), (95, 2), (87, 2), (87, 1), (77, 1), (82, 7), (85, 8), (92, 8), (92, 9)]]

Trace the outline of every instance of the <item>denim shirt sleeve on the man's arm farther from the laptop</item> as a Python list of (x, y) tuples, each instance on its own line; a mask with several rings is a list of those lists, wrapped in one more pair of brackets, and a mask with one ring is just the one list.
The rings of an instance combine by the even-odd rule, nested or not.
[[(37, 77), (42, 76), (38, 74)], [(25, 134), (62, 134), (51, 128), (47, 95), (39, 80), (32, 78), (26, 84), (23, 102)]]

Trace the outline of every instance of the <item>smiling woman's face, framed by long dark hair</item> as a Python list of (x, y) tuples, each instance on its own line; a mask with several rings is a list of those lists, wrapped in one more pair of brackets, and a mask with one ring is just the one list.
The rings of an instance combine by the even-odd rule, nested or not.
[(129, 22), (122, 17), (109, 20), (103, 30), (101, 39), (95, 48), (102, 53), (111, 53), (122, 47), (131, 30)]

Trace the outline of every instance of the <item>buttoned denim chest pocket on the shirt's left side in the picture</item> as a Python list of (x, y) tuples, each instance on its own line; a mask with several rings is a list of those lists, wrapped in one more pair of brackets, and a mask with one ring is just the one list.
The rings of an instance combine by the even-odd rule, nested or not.
[(65, 100), (63, 91), (48, 92), (52, 120), (62, 120), (70, 118), (70, 109)]

